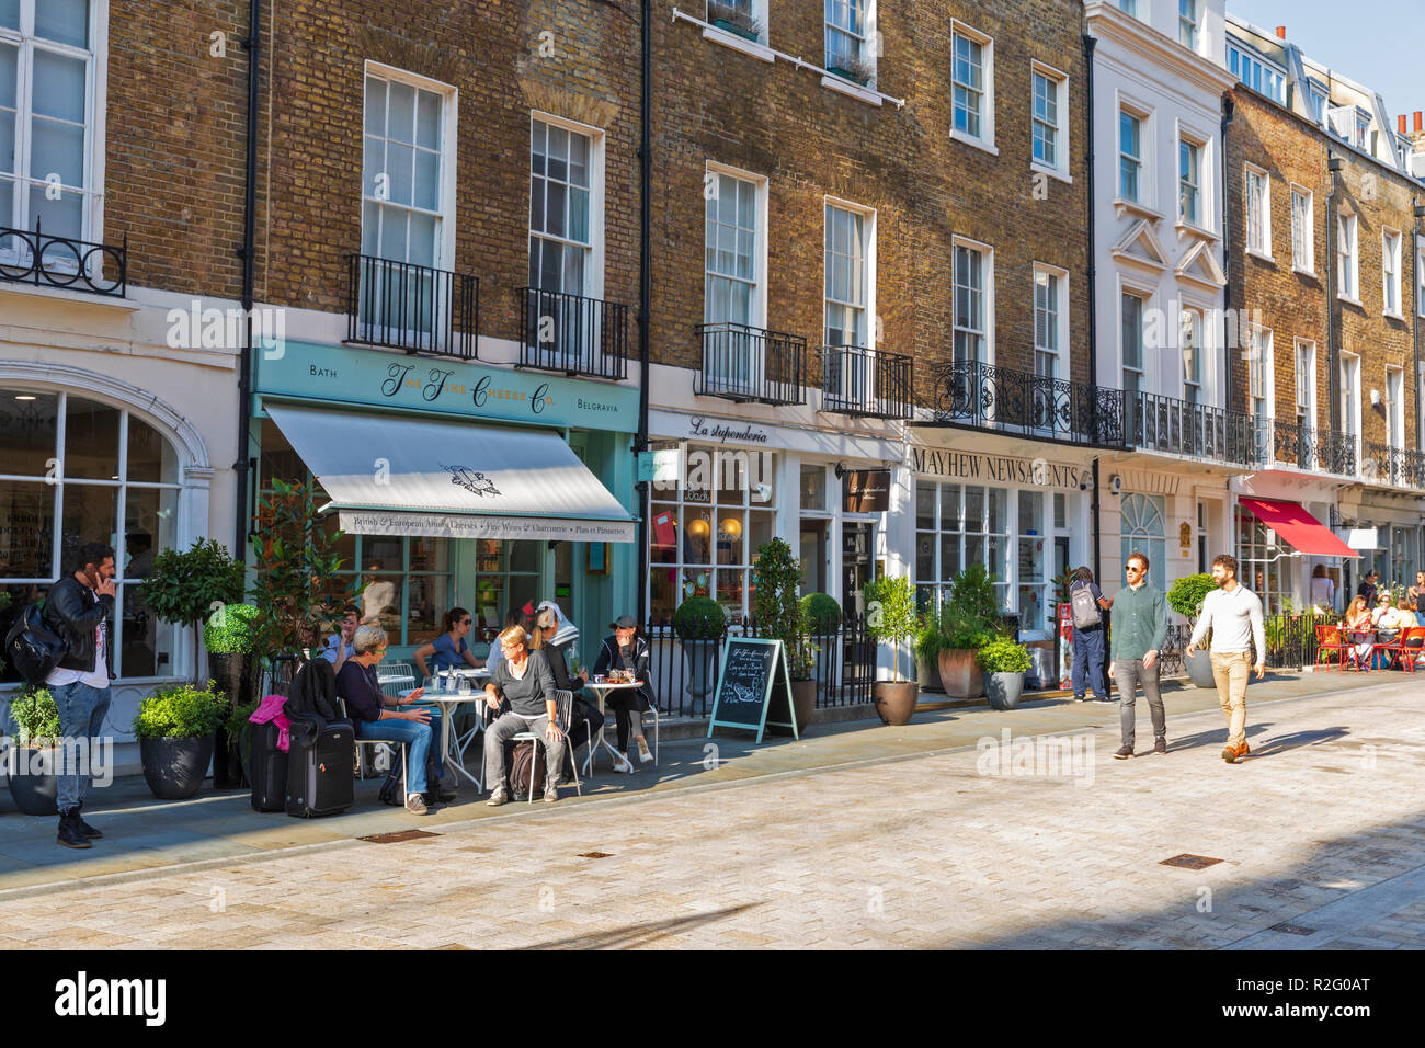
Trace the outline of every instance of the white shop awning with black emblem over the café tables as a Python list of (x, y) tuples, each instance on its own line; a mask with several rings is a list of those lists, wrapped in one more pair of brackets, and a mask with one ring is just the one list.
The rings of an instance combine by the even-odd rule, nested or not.
[(265, 406), (342, 530), (634, 542), (634, 518), (557, 433)]

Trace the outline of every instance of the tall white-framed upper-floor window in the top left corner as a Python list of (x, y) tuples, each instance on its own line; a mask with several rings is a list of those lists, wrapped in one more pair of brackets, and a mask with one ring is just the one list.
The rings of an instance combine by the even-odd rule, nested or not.
[[(103, 240), (107, 27), (95, 14), (95, 0), (0, 0), (0, 227)], [(0, 257), (21, 254), (19, 238), (0, 238)], [(54, 252), (43, 262), (64, 268)]]

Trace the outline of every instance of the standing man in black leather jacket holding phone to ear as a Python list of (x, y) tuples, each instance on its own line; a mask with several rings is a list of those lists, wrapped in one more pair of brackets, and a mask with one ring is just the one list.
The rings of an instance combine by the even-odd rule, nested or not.
[[(113, 629), (114, 550), (101, 542), (86, 542), (73, 558), (74, 573), (50, 586), (44, 617), (64, 639), (66, 653), (46, 686), (60, 707), (60, 733), (66, 740), (87, 740), (84, 747), (66, 747), (93, 759), (108, 713), (114, 676)], [(88, 769), (70, 767), (58, 776), (60, 834), (68, 848), (90, 848), (103, 834), (80, 817)]]

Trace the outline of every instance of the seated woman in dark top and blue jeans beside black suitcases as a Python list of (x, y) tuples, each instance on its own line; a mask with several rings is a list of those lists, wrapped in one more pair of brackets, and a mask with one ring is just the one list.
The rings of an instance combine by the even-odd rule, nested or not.
[[(440, 713), (423, 707), (388, 710), (382, 706), (385, 696), (376, 683), (376, 664), (386, 657), (386, 630), (380, 626), (358, 626), (352, 644), (356, 654), (348, 659), (336, 674), (336, 694), (346, 703), (346, 713), (356, 727), (356, 737), (406, 743), (410, 747), (406, 760), (406, 810), (412, 814), (429, 813), (426, 798), (422, 796), (428, 788), (435, 790), (439, 800), (455, 800), (455, 788), (440, 779), (440, 760), (432, 746), (440, 737)], [(400, 706), (420, 702), (422, 693), (423, 689), (418, 687), (399, 700)], [(433, 780), (428, 776), (428, 770), (435, 776)]]

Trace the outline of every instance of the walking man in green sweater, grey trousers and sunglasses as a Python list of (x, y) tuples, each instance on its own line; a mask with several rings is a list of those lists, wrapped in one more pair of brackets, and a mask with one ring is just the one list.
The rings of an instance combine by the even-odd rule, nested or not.
[(1129, 555), (1123, 566), (1129, 585), (1113, 597), (1113, 650), (1109, 677), (1119, 684), (1119, 726), (1123, 746), (1113, 756), (1127, 760), (1133, 756), (1133, 713), (1137, 686), (1149, 700), (1153, 717), (1153, 753), (1167, 753), (1167, 716), (1159, 692), (1159, 650), (1167, 640), (1167, 599), (1163, 590), (1149, 585), (1149, 559), (1139, 550)]

